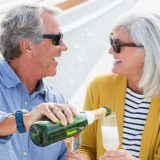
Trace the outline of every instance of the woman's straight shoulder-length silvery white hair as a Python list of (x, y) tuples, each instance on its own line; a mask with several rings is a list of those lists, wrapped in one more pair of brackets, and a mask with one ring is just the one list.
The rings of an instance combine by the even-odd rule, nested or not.
[(143, 89), (145, 97), (160, 95), (160, 16), (147, 11), (132, 12), (119, 19), (113, 31), (118, 27), (126, 31), (134, 43), (144, 46), (145, 61), (139, 88)]

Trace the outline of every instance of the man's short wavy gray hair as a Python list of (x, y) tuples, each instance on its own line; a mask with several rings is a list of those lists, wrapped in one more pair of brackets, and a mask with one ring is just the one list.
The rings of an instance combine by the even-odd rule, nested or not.
[(42, 34), (45, 33), (45, 27), (41, 13), (44, 11), (55, 15), (61, 12), (57, 7), (19, 5), (4, 15), (0, 25), (0, 50), (7, 60), (21, 55), (19, 49), (21, 39), (33, 43), (43, 42)]

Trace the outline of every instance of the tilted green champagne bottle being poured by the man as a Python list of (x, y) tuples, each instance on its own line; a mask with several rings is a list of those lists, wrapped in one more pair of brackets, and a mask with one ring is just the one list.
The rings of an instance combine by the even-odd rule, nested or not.
[(60, 121), (54, 123), (49, 119), (37, 121), (30, 128), (30, 137), (37, 146), (47, 146), (80, 133), (86, 126), (104, 115), (111, 113), (110, 107), (93, 111), (84, 111), (73, 117), (73, 122), (62, 126)]

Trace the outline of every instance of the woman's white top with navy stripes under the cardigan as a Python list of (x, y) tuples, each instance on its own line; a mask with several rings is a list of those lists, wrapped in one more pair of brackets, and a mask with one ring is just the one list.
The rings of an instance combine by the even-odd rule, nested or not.
[(131, 155), (139, 158), (141, 138), (146, 123), (151, 99), (144, 98), (144, 95), (134, 93), (127, 88), (122, 148)]

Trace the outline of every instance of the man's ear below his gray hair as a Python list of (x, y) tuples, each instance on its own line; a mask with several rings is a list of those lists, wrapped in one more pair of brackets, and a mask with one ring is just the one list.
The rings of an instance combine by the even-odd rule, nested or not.
[(22, 39), (19, 43), (20, 51), (26, 56), (32, 57), (32, 47), (33, 43), (29, 40)]

